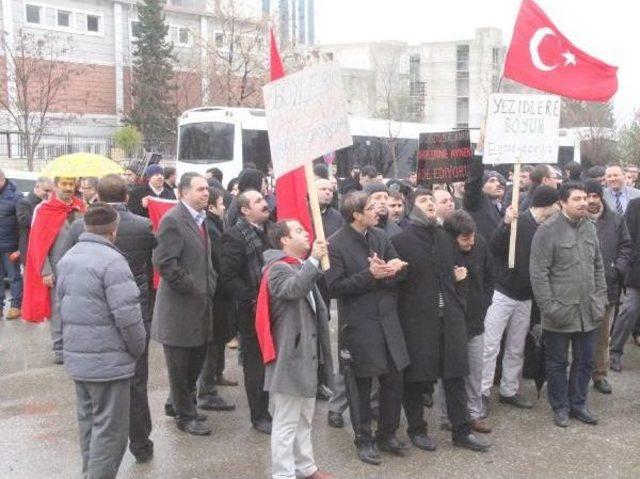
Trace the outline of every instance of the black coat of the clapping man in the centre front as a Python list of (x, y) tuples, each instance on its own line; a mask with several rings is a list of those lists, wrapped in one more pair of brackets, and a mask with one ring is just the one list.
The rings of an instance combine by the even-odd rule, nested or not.
[(409, 364), (396, 302), (396, 283), (404, 273), (375, 279), (369, 271), (373, 253), (385, 261), (398, 257), (382, 230), (369, 228), (365, 236), (345, 225), (330, 239), (331, 268), (324, 274), (331, 297), (338, 298), (339, 348), (351, 353), (356, 377), (402, 371)]

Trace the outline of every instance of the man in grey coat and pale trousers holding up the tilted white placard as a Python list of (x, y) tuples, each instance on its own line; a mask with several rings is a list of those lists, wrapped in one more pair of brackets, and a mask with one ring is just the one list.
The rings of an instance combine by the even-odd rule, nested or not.
[[(311, 446), (316, 373), (323, 367), (330, 380), (333, 372), (329, 315), (316, 285), (327, 246), (316, 241), (304, 261), (310, 249), (309, 233), (295, 220), (279, 221), (269, 235), (272, 246), (278, 248), (265, 252), (263, 277), (268, 281), (268, 319), (275, 343), (275, 359), (265, 367), (264, 385), (273, 407), (271, 473), (274, 479), (328, 479), (333, 476), (318, 470)], [(266, 292), (264, 287), (261, 291)], [(259, 296), (258, 304), (266, 300)], [(258, 313), (262, 311), (259, 306)], [(264, 357), (265, 362), (268, 359)]]

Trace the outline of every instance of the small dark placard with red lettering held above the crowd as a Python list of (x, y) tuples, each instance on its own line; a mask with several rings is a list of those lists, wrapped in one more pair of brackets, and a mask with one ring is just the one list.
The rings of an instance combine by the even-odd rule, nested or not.
[(418, 182), (463, 181), (472, 156), (469, 130), (420, 133)]

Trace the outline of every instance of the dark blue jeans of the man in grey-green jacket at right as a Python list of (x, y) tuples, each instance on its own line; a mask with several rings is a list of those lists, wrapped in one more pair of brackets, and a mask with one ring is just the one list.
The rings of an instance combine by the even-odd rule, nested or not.
[[(547, 395), (554, 411), (568, 412), (585, 407), (597, 337), (597, 329), (588, 333), (544, 332)], [(569, 344), (573, 350), (573, 360), (567, 378)]]

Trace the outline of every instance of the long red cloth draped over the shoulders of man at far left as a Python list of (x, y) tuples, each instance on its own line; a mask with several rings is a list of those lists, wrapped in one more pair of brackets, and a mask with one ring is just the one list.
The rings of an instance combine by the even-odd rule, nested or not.
[(24, 269), (23, 319), (39, 323), (51, 317), (49, 288), (42, 282), (42, 266), (69, 214), (84, 213), (85, 209), (84, 202), (75, 196), (69, 205), (52, 196), (35, 210)]

